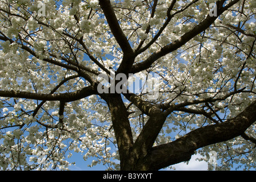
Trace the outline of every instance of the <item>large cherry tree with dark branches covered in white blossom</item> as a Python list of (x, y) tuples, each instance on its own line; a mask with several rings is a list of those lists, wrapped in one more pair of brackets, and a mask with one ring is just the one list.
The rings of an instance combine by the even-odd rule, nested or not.
[[(255, 167), (254, 0), (0, 5), (1, 169), (67, 169), (73, 152), (121, 170), (210, 151), (218, 169)], [(118, 75), (152, 89), (117, 92)]]

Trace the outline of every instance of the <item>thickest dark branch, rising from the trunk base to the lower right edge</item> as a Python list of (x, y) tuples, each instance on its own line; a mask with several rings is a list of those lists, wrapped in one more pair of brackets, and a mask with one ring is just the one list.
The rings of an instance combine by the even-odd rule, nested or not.
[[(174, 142), (153, 147), (146, 156), (144, 169), (161, 169), (191, 158), (194, 151), (209, 144), (224, 142), (243, 135), (248, 127), (256, 121), (256, 101), (249, 105), (237, 117), (223, 123), (201, 127)], [(244, 136), (244, 135), (243, 135)]]

